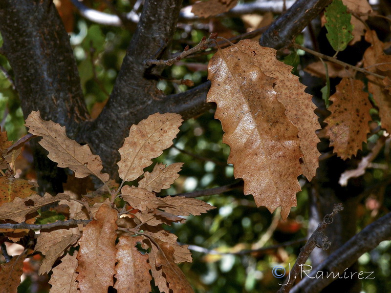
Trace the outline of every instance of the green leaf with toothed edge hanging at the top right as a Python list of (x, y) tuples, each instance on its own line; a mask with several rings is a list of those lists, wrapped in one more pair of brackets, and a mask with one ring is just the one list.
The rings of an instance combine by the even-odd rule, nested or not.
[(342, 0), (333, 0), (326, 7), (326, 29), (327, 40), (337, 52), (343, 51), (353, 39), (351, 32), (353, 25), (350, 23), (351, 14), (348, 13), (346, 5)]

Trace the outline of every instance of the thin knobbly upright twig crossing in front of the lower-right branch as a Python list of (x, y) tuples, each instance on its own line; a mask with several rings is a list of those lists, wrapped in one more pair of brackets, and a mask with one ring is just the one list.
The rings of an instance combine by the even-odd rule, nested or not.
[(343, 210), (342, 204), (334, 205), (334, 209), (331, 214), (326, 215), (323, 218), (322, 223), (318, 225), (318, 228), (312, 233), (311, 237), (309, 237), (307, 243), (300, 250), (299, 256), (296, 259), (295, 264), (292, 267), (292, 270), (289, 272), (289, 276), (285, 280), (285, 285), (280, 288), (278, 293), (288, 293), (292, 288), (293, 283), (300, 273), (301, 265), (305, 263), (308, 259), (309, 254), (314, 250), (315, 247), (322, 248), (323, 250), (327, 250), (330, 247), (331, 242), (328, 241), (327, 236), (323, 233), (323, 230), (326, 229), (327, 225), (333, 222), (333, 216)]

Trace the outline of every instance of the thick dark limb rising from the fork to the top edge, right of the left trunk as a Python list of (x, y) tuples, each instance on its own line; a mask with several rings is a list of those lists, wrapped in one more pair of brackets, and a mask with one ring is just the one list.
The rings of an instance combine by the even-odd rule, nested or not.
[(101, 156), (111, 175), (116, 174), (116, 162), (120, 159), (117, 149), (129, 127), (155, 112), (173, 112), (167, 107), (177, 103), (156, 87), (158, 80), (154, 75), (160, 74), (164, 67), (147, 66), (144, 61), (164, 56), (174, 35), (181, 2), (145, 1), (109, 102), (84, 131), (83, 139)]

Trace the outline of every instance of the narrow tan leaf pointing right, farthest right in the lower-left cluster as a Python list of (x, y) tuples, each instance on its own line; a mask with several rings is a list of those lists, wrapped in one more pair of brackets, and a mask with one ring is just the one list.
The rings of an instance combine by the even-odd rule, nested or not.
[(166, 203), (165, 207), (161, 207), (165, 212), (172, 213), (177, 216), (199, 216), (203, 212), (207, 212), (210, 209), (216, 209), (206, 202), (195, 199), (187, 198), (184, 196), (166, 196), (161, 198)]

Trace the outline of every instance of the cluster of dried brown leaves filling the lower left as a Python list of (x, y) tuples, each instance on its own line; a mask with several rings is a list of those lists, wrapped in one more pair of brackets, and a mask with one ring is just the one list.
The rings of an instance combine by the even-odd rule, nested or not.
[[(6, 292), (17, 292), (23, 260), (35, 251), (44, 255), (39, 273), (53, 271), (51, 293), (107, 293), (109, 286), (118, 293), (148, 293), (152, 277), (161, 292), (193, 292), (176, 265), (191, 262), (191, 253), (187, 246), (177, 244), (177, 237), (164, 230), (162, 224), (183, 223), (181, 216), (200, 215), (213, 207), (197, 199), (156, 196), (156, 192), (174, 183), (182, 163), (168, 167), (156, 164), (152, 172), (143, 171), (152, 164), (152, 158), (172, 145), (181, 122), (177, 114), (154, 114), (130, 128), (129, 137), (119, 149), (122, 184), (118, 186), (109, 180), (109, 174), (102, 173), (99, 156), (92, 154), (87, 145), (81, 146), (66, 137), (65, 126), (43, 121), (39, 112), (32, 112), (25, 125), (30, 133), (42, 137), (39, 143), (49, 151), (48, 157), (59, 167), (71, 169), (75, 178), (94, 175), (104, 184), (87, 194), (65, 188), (64, 193), (46, 193), (42, 197), (31, 189), (34, 185), (30, 182), (12, 176), (12, 161), (4, 156), (11, 143), (4, 140), (6, 133), (1, 132), (1, 162), (9, 167), (0, 177), (3, 223), (33, 224), (39, 218), (38, 209), (56, 202), (60, 208), (68, 208), (64, 213), (67, 219), (90, 220), (85, 221), (86, 226), (64, 224), (41, 229), (33, 248), (1, 265), (1, 286), (7, 288)], [(138, 187), (124, 185), (141, 175)], [(18, 241), (29, 230), (0, 232)], [(61, 263), (53, 268), (58, 259)]]

